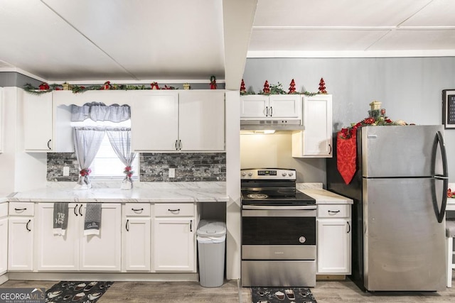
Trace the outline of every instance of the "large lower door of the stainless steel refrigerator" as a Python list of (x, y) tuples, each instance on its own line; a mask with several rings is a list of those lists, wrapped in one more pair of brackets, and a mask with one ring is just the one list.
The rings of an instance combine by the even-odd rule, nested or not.
[[(434, 186), (434, 187), (433, 187)], [(363, 179), (364, 286), (370, 291), (446, 289), (443, 187), (433, 178)]]

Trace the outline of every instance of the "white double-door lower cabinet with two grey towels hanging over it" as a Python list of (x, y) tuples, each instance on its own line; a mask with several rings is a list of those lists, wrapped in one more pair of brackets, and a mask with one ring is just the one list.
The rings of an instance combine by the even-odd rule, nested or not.
[(85, 205), (70, 203), (65, 236), (53, 234), (53, 203), (38, 204), (37, 270), (120, 271), (120, 204), (103, 203), (100, 235), (84, 235)]

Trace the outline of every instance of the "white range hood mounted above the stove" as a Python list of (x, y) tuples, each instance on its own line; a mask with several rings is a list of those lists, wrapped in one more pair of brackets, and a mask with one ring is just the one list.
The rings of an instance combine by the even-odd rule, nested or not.
[(240, 120), (240, 131), (303, 131), (300, 119), (290, 120)]

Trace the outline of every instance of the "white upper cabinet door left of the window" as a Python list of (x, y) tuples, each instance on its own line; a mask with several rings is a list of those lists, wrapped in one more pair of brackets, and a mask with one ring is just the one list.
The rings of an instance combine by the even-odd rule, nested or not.
[(53, 149), (52, 94), (23, 92), (24, 148), (28, 152)]

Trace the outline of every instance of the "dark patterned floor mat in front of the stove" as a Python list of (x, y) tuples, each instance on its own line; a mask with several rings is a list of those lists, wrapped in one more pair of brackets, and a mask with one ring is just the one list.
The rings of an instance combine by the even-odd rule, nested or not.
[(253, 303), (316, 303), (307, 287), (251, 287)]

